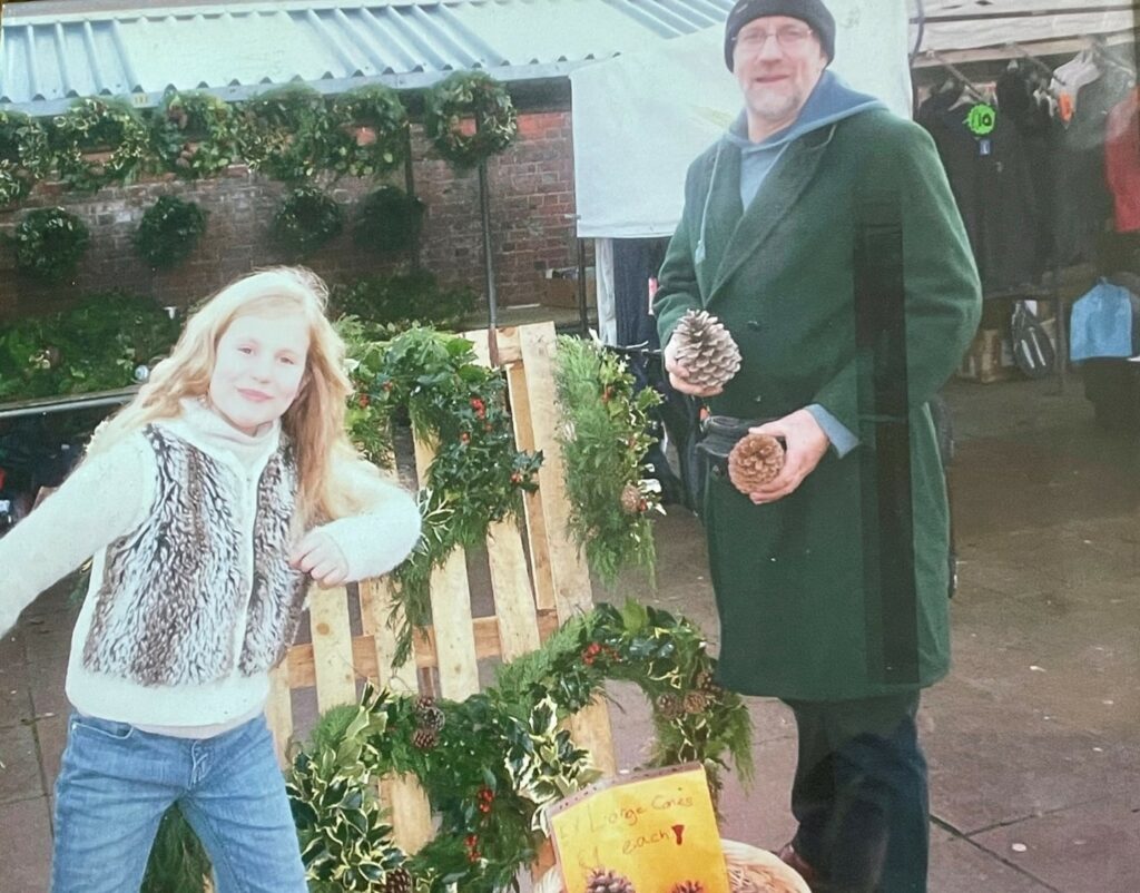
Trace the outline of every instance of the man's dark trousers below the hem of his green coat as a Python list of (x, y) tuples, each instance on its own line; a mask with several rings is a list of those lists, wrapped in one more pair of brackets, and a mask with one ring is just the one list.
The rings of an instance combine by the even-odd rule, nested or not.
[(820, 875), (813, 893), (926, 893), (930, 807), (914, 723), (919, 692), (787, 704), (799, 732), (792, 844)]

